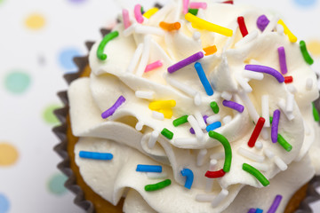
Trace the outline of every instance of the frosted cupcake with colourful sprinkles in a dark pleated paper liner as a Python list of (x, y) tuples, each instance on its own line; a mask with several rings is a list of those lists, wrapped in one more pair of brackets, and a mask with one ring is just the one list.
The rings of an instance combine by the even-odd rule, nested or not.
[(76, 203), (87, 212), (297, 209), (320, 172), (305, 43), (276, 15), (211, 1), (137, 4), (120, 20), (87, 43), (60, 93), (56, 150)]

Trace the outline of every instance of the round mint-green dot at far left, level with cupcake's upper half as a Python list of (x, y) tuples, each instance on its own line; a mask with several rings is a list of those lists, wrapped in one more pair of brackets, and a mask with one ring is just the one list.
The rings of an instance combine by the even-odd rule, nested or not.
[(5, 89), (14, 94), (27, 91), (30, 82), (31, 79), (28, 73), (20, 70), (13, 70), (4, 78)]

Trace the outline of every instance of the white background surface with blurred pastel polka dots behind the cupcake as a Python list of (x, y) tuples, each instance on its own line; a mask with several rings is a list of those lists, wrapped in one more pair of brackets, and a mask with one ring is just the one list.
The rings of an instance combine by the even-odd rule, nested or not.
[[(67, 88), (62, 75), (76, 71), (72, 59), (85, 54), (84, 42), (100, 39), (99, 29), (114, 23), (121, 6), (137, 2), (148, 8), (156, 1), (0, 0), (0, 213), (83, 212), (56, 169), (53, 110), (62, 106), (56, 93)], [(280, 13), (306, 41), (320, 72), (320, 28), (312, 27), (320, 20), (320, 0), (236, 4)], [(320, 212), (319, 203), (313, 208)]]

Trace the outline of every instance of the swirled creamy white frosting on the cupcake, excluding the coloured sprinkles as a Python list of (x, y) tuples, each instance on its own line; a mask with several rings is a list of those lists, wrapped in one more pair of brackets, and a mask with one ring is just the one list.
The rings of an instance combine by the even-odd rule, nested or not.
[[(116, 26), (114, 30), (119, 31), (119, 36), (106, 45), (104, 53), (108, 59), (104, 61), (96, 56), (100, 41), (95, 43), (89, 56), (92, 74), (88, 78), (77, 79), (68, 90), (72, 131), (76, 137), (80, 137), (75, 149), (76, 164), (84, 181), (106, 200), (116, 205), (121, 196), (126, 194), (125, 212), (240, 212), (238, 208), (242, 208), (243, 212), (250, 208), (267, 210), (275, 195), (282, 194), (284, 199), (279, 207), (281, 212), (292, 193), (313, 177), (315, 168), (320, 173), (319, 156), (316, 156), (319, 145), (313, 145), (316, 138), (319, 138), (319, 127), (313, 119), (311, 107), (311, 102), (318, 97), (316, 75), (302, 58), (299, 44), (290, 43), (287, 36), (273, 32), (272, 29), (263, 34), (258, 32), (256, 20), (265, 12), (206, 2), (207, 9), (200, 10), (198, 16), (234, 29), (233, 36), (226, 37), (192, 28), (180, 12), (182, 1), (165, 5), (142, 23), (143, 27), (153, 27), (153, 31), (155, 28), (156, 32), (160, 30), (164, 36), (146, 34), (145, 31), (148, 32), (150, 28), (142, 28), (144, 32), (141, 32), (140, 24), (136, 23), (131, 14), (132, 32), (124, 36), (123, 24)], [(237, 27), (236, 17), (240, 15), (244, 16), (249, 32), (258, 32), (258, 35), (247, 41), (243, 41)], [(275, 17), (270, 16), (269, 19)], [(162, 20), (179, 21), (181, 28), (168, 33), (158, 28)], [(196, 32), (200, 32), (199, 39), (194, 38)], [(198, 60), (212, 84), (212, 96), (206, 95), (193, 64), (167, 74), (167, 67), (213, 44), (218, 51)], [(134, 56), (134, 61), (137, 61), (137, 57), (139, 59), (138, 64), (132, 67), (132, 57), (138, 46), (143, 51), (139, 56)], [(292, 75), (291, 84), (296, 89), (294, 99), (291, 99), (290, 112), (285, 111), (285, 100), (291, 95), (286, 84), (278, 83), (271, 75), (263, 75), (263, 79), (261, 76), (244, 75), (246, 64), (260, 64), (280, 70), (276, 51), (279, 46), (284, 46), (288, 75)], [(163, 67), (143, 74), (147, 64), (159, 59)], [(307, 80), (313, 82), (314, 86), (306, 88)], [(178, 88), (176, 83), (180, 83)], [(186, 86), (188, 91), (183, 90)], [(248, 88), (252, 88), (252, 91)], [(141, 94), (152, 96), (141, 99)], [(243, 113), (222, 106), (221, 96), (225, 97), (226, 94), (228, 99), (231, 97), (231, 100), (244, 105)], [(115, 114), (102, 119), (101, 113), (121, 95), (126, 99), (124, 104), (116, 109)], [(284, 104), (278, 132), (292, 145), (291, 152), (271, 142), (269, 125), (265, 125), (259, 137), (263, 147), (247, 146), (254, 129), (253, 122), (262, 116), (261, 97), (264, 95), (268, 95), (270, 115), (279, 108), (279, 103)], [(172, 108), (172, 118), (157, 118), (148, 108), (149, 103), (168, 99), (176, 101), (176, 106)], [(228, 118), (228, 122), (223, 122), (215, 131), (228, 138), (232, 148), (232, 162), (230, 171), (224, 177), (214, 179), (212, 189), (208, 190), (204, 173), (210, 167), (210, 156), (223, 153), (223, 146), (210, 138), (205, 130), (200, 130), (200, 127), (204, 128), (203, 122), (200, 122), (200, 131), (192, 135), (189, 133), (189, 123), (174, 127), (172, 121), (188, 114), (193, 115), (189, 116), (190, 119), (196, 117), (192, 121), (197, 124), (200, 114), (214, 115), (210, 107), (213, 100), (220, 106), (220, 118)], [(188, 121), (192, 124), (190, 119)], [(164, 128), (174, 133), (172, 140), (161, 134), (157, 137), (158, 132)], [(237, 150), (243, 149), (250, 149), (255, 157), (259, 155), (260, 161), (252, 161), (245, 154), (237, 153)], [(78, 154), (81, 150), (112, 153), (114, 158), (108, 162), (82, 159)], [(265, 150), (275, 154), (276, 161), (265, 158)], [(201, 163), (198, 162), (199, 155)], [(313, 167), (310, 166), (310, 159)], [(215, 168), (220, 170), (224, 157), (216, 160)], [(263, 187), (255, 177), (244, 171), (244, 162), (260, 168), (270, 180), (270, 185)], [(146, 192), (144, 186), (158, 180), (148, 178), (146, 173), (136, 172), (137, 164), (162, 165), (172, 185), (156, 192)], [(186, 177), (180, 171), (184, 168), (194, 173), (190, 190), (183, 186)], [(220, 193), (217, 199), (221, 198), (221, 201), (196, 201), (196, 195), (204, 193), (215, 198)]]

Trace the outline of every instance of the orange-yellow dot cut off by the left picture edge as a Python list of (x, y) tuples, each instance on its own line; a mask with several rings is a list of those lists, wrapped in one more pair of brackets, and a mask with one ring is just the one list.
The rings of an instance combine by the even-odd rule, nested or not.
[(17, 149), (8, 144), (0, 143), (0, 166), (11, 166), (19, 157)]

